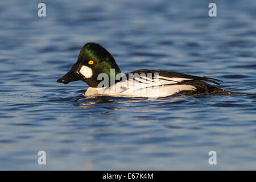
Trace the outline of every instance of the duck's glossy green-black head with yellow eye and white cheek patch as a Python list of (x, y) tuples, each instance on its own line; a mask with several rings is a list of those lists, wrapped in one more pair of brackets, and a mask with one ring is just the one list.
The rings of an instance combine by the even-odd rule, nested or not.
[(115, 70), (115, 76), (121, 73), (114, 57), (104, 47), (96, 43), (86, 43), (79, 53), (77, 62), (57, 82), (68, 84), (71, 81), (82, 80), (90, 87), (97, 87), (101, 82), (97, 79), (98, 75), (105, 73), (110, 78), (110, 69)]

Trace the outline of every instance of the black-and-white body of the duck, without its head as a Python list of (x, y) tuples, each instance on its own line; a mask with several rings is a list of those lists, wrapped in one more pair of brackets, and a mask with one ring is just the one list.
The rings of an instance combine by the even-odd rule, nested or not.
[[(168, 72), (160, 70), (139, 69), (130, 74), (141, 75), (145, 73), (158, 74), (155, 77), (139, 76), (129, 78), (129, 73), (125, 81), (118, 81), (109, 87), (93, 88), (89, 87), (84, 96), (114, 96), (114, 97), (167, 97), (173, 94), (184, 94), (187, 96), (199, 95), (219, 95), (219, 94), (238, 94), (229, 92), (216, 86), (207, 84), (204, 81), (218, 84), (214, 78), (197, 77), (185, 75), (183, 73)], [(201, 81), (204, 80), (204, 81)], [(213, 81), (216, 80), (216, 81)], [(220, 85), (220, 84), (218, 84)]]

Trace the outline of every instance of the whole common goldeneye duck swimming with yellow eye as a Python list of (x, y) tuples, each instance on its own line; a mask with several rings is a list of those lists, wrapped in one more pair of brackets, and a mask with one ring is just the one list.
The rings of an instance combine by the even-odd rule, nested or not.
[(122, 75), (114, 57), (96, 43), (86, 43), (81, 48), (77, 62), (57, 82), (68, 84), (78, 80), (89, 85), (85, 96), (167, 97), (172, 94), (242, 94), (207, 84), (204, 81), (221, 85), (221, 80), (209, 77), (148, 69), (139, 69)]

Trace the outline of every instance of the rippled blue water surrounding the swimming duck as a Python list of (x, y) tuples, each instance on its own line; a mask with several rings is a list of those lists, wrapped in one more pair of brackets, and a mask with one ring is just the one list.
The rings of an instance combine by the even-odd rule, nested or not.
[[(256, 95), (84, 98), (59, 84), (86, 42), (123, 73), (164, 69), (256, 93), (256, 2), (0, 2), (0, 169), (256, 169)], [(38, 151), (47, 164), (38, 165)], [(217, 152), (217, 165), (208, 152)]]

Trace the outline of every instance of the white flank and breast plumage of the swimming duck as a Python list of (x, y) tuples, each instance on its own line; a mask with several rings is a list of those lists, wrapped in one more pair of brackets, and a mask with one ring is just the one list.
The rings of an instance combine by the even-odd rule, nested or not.
[(177, 84), (192, 78), (171, 78), (156, 76), (154, 80), (141, 76), (117, 82), (110, 88), (89, 88), (85, 96), (115, 96), (115, 97), (167, 97), (183, 90), (196, 90), (195, 86)]

